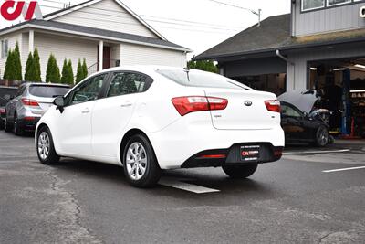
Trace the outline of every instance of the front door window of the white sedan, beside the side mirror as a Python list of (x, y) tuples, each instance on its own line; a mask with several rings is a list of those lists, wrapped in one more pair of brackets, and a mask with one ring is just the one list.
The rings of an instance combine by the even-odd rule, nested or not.
[(87, 101), (99, 99), (100, 91), (102, 90), (107, 74), (95, 76), (86, 80), (71, 94), (69, 105), (78, 104)]

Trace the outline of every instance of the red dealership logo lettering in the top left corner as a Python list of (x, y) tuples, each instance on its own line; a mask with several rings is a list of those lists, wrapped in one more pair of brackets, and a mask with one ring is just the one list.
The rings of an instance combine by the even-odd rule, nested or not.
[(31, 20), (33, 16), (36, 19), (42, 19), (42, 12), (36, 1), (30, 1), (29, 5), (25, 1), (5, 1), (1, 7), (1, 16), (8, 21), (16, 20), (20, 15), (25, 20)]

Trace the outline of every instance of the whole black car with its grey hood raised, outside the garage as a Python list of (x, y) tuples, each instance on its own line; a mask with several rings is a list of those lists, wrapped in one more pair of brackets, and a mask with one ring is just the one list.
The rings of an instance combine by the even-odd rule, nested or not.
[(330, 112), (316, 108), (319, 98), (315, 90), (290, 91), (278, 99), (281, 103), (281, 126), (287, 144), (313, 143), (323, 147), (331, 143), (328, 130)]

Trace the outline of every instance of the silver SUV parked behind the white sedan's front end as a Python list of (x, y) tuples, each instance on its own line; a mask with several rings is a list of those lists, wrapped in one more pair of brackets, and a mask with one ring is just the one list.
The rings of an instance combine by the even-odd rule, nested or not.
[(70, 87), (52, 83), (25, 83), (16, 92), (15, 98), (5, 106), (5, 131), (21, 135), (34, 131), (36, 123), (52, 106), (58, 96), (65, 95)]

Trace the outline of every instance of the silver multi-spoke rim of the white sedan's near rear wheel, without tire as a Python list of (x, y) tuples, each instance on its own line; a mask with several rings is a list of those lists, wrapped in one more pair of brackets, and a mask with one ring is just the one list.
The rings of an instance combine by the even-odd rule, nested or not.
[(141, 143), (131, 143), (126, 155), (126, 167), (132, 180), (140, 180), (146, 172), (147, 154)]

